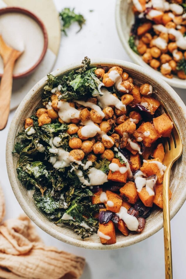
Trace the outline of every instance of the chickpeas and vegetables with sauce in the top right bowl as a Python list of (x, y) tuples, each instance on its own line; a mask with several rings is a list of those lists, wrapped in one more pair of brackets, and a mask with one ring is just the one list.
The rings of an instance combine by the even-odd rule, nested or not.
[(133, 0), (135, 22), (129, 45), (166, 78), (186, 79), (186, 4)]

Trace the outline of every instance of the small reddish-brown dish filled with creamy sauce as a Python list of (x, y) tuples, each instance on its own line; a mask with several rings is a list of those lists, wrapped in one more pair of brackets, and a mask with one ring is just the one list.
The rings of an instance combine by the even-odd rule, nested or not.
[[(13, 78), (32, 73), (43, 60), (47, 46), (47, 31), (42, 21), (30, 11), (18, 7), (0, 9), (1, 35), (8, 46), (23, 51), (16, 61)], [(0, 58), (0, 76), (3, 62)]]

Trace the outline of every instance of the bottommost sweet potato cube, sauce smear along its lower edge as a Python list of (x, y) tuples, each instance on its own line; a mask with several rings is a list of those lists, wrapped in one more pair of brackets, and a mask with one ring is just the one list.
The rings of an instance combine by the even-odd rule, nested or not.
[(107, 224), (100, 224), (98, 229), (98, 236), (103, 244), (116, 243), (115, 227), (113, 221), (108, 221)]

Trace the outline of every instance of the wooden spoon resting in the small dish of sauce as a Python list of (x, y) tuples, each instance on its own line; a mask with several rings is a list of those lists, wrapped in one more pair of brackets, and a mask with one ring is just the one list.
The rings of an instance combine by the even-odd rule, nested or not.
[(22, 53), (7, 46), (0, 35), (0, 55), (4, 64), (4, 73), (0, 84), (0, 130), (6, 127), (9, 117), (14, 64)]

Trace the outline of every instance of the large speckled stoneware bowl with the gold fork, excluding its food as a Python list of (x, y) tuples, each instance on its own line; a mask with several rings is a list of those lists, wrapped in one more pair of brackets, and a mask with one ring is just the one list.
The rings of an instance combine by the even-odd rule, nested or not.
[[(183, 142), (183, 154), (172, 167), (172, 175), (170, 179), (170, 189), (172, 191), (172, 199), (170, 200), (170, 217), (172, 218), (175, 216), (186, 199), (186, 107), (176, 92), (165, 81), (161, 80), (159, 76), (153, 75), (152, 72), (138, 65), (121, 60), (110, 59), (93, 60), (91, 64), (91, 66), (100, 65), (108, 67), (119, 65), (124, 71), (129, 73), (132, 78), (134, 78), (135, 83), (139, 85), (142, 83), (150, 83), (153, 86), (154, 91), (157, 92), (155, 93), (156, 98), (165, 102), (167, 109), (171, 113), (172, 118), (180, 131)], [(62, 76), (79, 67), (80, 64), (69, 65), (69, 67), (58, 69), (52, 74), (55, 76)], [(129, 236), (123, 236), (120, 234), (117, 236), (117, 242), (115, 244), (103, 245), (100, 243), (100, 239), (97, 234), (82, 240), (81, 237), (73, 233), (69, 227), (56, 226), (36, 208), (33, 200), (28, 196), (25, 187), (17, 178), (17, 157), (12, 154), (11, 151), (14, 148), (17, 133), (23, 129), (25, 118), (30, 117), (31, 114), (35, 113), (36, 108), (41, 105), (41, 94), (43, 92), (43, 86), (46, 85), (46, 79), (47, 77), (45, 76), (42, 80), (36, 83), (19, 105), (12, 120), (7, 138), (7, 171), (12, 189), (22, 209), (31, 218), (31, 220), (36, 223), (36, 225), (43, 229), (43, 231), (49, 233), (51, 236), (58, 238), (63, 242), (88, 249), (110, 250), (122, 248), (142, 241), (159, 231), (163, 226), (163, 214), (162, 210), (157, 209), (147, 218), (145, 229), (141, 234), (130, 233)]]

